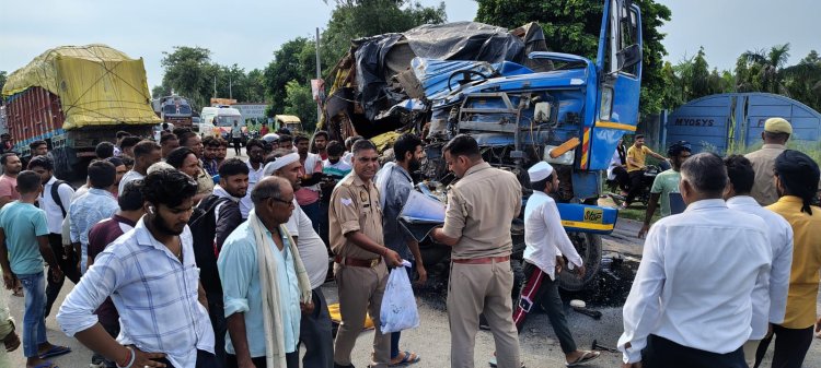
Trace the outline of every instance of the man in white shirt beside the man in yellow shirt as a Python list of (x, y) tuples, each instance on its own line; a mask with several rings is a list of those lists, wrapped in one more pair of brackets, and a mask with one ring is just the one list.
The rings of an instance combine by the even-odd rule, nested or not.
[(756, 215), (767, 224), (767, 237), (773, 251), (773, 264), (770, 271), (770, 288), (759, 283), (752, 295), (753, 318), (750, 341), (744, 344), (747, 365), (755, 365), (755, 352), (761, 340), (772, 333), (771, 324), (782, 324), (787, 309), (789, 273), (793, 265), (793, 227), (775, 212), (759, 205), (750, 195), (755, 182), (752, 163), (741, 155), (731, 155), (724, 159), (730, 186), (725, 193), (727, 206)]

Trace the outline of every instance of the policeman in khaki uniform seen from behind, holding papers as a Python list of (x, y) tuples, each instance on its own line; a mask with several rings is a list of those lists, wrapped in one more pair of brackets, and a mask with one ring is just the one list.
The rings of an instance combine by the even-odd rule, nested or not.
[(485, 163), (470, 135), (456, 135), (442, 151), (448, 168), (461, 178), (448, 192), (444, 226), (432, 233), (433, 240), (453, 248), (448, 286), (451, 367), (473, 367), (484, 312), (496, 342), (498, 367), (519, 368), (510, 298), (510, 224), (521, 211), (521, 185), (513, 174)]

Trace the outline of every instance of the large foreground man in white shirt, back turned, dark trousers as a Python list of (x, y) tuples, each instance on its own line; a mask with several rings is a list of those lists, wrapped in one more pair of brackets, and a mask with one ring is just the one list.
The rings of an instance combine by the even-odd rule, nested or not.
[(727, 168), (702, 153), (681, 167), (684, 213), (660, 219), (645, 241), (624, 305), (618, 349), (629, 367), (747, 367), (752, 294), (770, 280), (761, 217), (721, 199)]

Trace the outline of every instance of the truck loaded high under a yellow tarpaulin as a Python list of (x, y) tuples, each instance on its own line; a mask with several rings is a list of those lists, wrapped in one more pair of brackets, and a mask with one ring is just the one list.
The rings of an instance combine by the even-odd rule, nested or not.
[(61, 46), (11, 73), (3, 86), (15, 151), (44, 140), (56, 175), (84, 176), (94, 149), (116, 132), (151, 136), (162, 120), (151, 108), (142, 59), (105, 45)]

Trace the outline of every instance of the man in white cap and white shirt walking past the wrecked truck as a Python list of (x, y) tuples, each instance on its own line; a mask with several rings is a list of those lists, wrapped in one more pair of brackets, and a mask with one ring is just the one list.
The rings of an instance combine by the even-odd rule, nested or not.
[[(563, 311), (556, 276), (564, 268), (564, 257), (570, 261), (569, 269), (585, 275), (585, 265), (562, 226), (556, 202), (550, 193), (558, 189), (558, 175), (553, 166), (540, 162), (528, 169), (533, 195), (524, 207), (524, 274), (528, 277), (513, 310), (513, 322), (519, 331), (535, 304), (547, 308), (547, 317), (558, 337), (565, 360), (570, 367), (587, 364), (599, 357), (599, 352), (585, 352), (576, 347)], [(563, 257), (564, 254), (564, 257)]]

